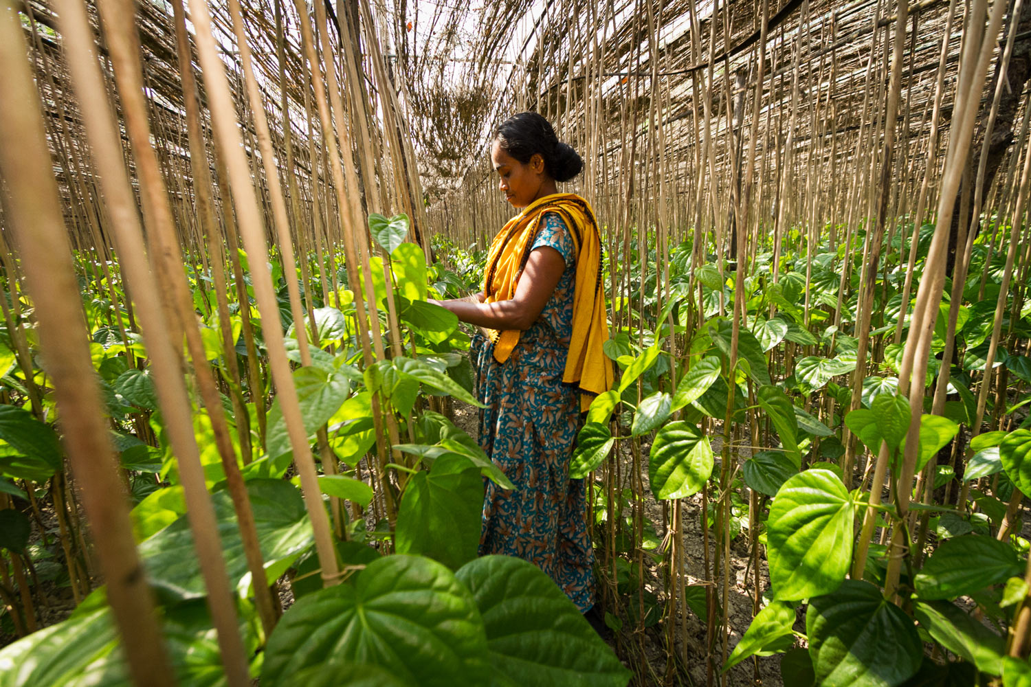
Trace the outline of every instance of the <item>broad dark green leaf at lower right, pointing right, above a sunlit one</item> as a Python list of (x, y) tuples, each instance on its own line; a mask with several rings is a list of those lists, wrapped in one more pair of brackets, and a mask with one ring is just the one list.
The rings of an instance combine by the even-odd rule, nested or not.
[(956, 598), (1001, 584), (1023, 570), (1008, 542), (967, 535), (941, 542), (913, 582), (923, 599)]

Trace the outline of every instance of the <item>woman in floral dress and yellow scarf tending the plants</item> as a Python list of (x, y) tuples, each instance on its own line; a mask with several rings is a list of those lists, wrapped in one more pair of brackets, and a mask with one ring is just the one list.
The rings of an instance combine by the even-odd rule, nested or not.
[(584, 480), (569, 479), (580, 412), (612, 370), (594, 212), (556, 182), (583, 169), (552, 125), (522, 112), (495, 132), (499, 188), (521, 212), (495, 238), (481, 293), (440, 302), (480, 328), (479, 443), (516, 484), (487, 483), (480, 555), (519, 556), (547, 573), (581, 612), (594, 604)]

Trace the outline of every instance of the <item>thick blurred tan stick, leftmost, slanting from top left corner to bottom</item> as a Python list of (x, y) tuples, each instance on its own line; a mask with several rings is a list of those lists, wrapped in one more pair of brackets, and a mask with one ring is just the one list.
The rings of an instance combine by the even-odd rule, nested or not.
[[(36, 306), (36, 331), (54, 382), (65, 448), (95, 538), (107, 603), (140, 687), (175, 680), (158, 624), (154, 594), (136, 552), (129, 503), (99, 409), (100, 389), (85, 337), (69, 337), (79, 322), (80, 295), (61, 216), (57, 182), (33, 85), (19, 14), (0, 7), (0, 175), (10, 192), (6, 207), (16, 232), (22, 266)], [(81, 330), (80, 330), (81, 331)]]

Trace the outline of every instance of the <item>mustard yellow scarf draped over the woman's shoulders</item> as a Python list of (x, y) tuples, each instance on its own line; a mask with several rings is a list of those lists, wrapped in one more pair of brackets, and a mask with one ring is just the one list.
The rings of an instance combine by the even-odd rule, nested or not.
[[(544, 196), (508, 220), (491, 244), (484, 274), (488, 303), (516, 296), (530, 248), (545, 212), (558, 212), (569, 228), (576, 248), (576, 282), (573, 293), (573, 329), (562, 381), (578, 382), (580, 409), (612, 386), (612, 365), (602, 351), (608, 339), (605, 295), (601, 289), (601, 236), (594, 210), (575, 194)], [(504, 363), (519, 343), (519, 330), (488, 330), (494, 341), (494, 358)]]

